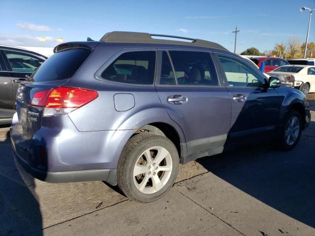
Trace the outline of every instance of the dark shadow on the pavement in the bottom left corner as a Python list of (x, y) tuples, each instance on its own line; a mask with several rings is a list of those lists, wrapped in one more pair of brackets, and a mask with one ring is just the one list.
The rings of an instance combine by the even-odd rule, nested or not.
[[(1, 128), (5, 128), (1, 126)], [(1, 133), (5, 135), (5, 133)], [(31, 190), (33, 179), (27, 184), (11, 154), (9, 133), (0, 142), (0, 235), (42, 235), (42, 216)], [(11, 158), (8, 158), (11, 157)]]

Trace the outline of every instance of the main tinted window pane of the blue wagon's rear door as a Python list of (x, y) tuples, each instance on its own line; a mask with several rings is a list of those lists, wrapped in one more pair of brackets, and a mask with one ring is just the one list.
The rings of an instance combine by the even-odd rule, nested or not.
[(178, 85), (219, 85), (209, 53), (170, 51), (169, 54)]

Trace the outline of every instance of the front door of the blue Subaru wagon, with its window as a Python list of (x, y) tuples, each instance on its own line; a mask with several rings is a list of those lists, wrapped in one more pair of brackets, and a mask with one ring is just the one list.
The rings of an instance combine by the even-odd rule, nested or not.
[(279, 124), (276, 89), (264, 88), (264, 76), (243, 59), (224, 54), (216, 57), (232, 97), (229, 144), (272, 135)]

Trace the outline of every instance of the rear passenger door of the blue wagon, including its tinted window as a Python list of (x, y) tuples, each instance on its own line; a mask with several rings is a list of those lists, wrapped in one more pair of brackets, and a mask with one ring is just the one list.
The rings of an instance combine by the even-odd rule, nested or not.
[(231, 99), (210, 53), (160, 50), (158, 56), (158, 96), (184, 131), (188, 159), (221, 152), (230, 129)]

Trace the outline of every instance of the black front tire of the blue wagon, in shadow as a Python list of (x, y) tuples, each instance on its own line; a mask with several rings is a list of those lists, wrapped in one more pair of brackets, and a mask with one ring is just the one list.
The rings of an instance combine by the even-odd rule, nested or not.
[[(299, 121), (299, 134), (298, 134), (295, 142), (293, 142), (292, 144), (288, 144), (286, 141), (286, 129), (288, 127), (288, 122), (293, 117), (296, 117)], [(280, 141), (281, 141), (280, 148), (282, 150), (285, 150), (285, 151), (291, 150), (298, 144), (300, 137), (301, 137), (301, 133), (302, 133), (302, 127), (303, 127), (303, 120), (302, 120), (301, 114), (296, 110), (293, 110), (293, 109), (289, 110), (286, 117), (284, 118), (284, 124), (283, 124), (281, 134), (280, 134)]]

